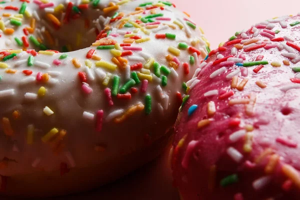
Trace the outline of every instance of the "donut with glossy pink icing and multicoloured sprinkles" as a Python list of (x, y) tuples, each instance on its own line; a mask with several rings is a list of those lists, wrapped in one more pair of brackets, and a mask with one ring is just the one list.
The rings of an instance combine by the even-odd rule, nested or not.
[(211, 50), (186, 85), (170, 151), (182, 199), (299, 199), (300, 15)]

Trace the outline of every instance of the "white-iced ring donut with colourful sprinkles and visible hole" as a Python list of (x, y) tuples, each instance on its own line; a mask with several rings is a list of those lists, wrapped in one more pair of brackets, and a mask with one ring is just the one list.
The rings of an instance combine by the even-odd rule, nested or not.
[(154, 0), (1, 0), (0, 37), (3, 195), (87, 190), (156, 157), (209, 51)]

